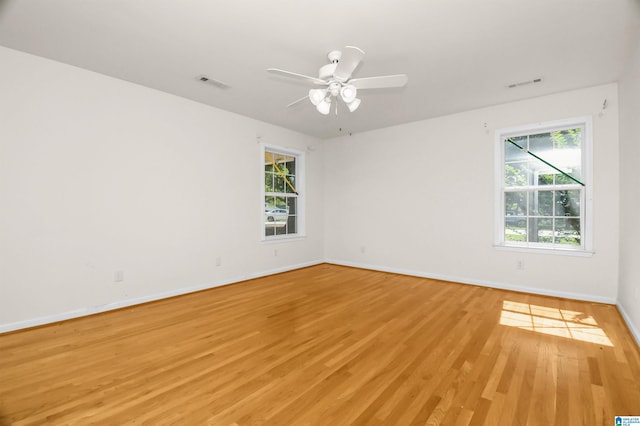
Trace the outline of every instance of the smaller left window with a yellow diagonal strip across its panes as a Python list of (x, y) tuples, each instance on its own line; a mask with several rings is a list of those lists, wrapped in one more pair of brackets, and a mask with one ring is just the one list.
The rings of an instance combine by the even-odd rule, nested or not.
[(302, 154), (264, 147), (264, 238), (302, 235)]

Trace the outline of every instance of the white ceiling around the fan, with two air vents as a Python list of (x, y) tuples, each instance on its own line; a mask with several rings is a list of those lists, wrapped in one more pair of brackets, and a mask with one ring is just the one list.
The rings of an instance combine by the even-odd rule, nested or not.
[[(614, 82), (638, 34), (639, 4), (0, 0), (0, 45), (328, 138)], [(360, 91), (353, 113), (286, 108), (310, 87), (266, 68), (316, 76), (345, 45), (366, 52), (355, 77), (406, 73), (409, 83)], [(202, 83), (203, 74), (231, 87)], [(543, 83), (507, 88), (537, 77)]]

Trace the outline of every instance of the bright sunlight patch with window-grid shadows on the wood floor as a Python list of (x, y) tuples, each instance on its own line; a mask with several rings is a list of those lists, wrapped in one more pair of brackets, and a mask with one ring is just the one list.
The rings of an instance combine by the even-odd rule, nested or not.
[(505, 300), (502, 303), (500, 324), (567, 339), (613, 346), (593, 317), (582, 312)]

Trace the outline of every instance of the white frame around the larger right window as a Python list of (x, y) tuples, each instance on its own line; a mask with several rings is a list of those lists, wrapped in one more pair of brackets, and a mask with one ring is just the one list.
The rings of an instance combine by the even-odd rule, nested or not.
[[(548, 243), (519, 243), (506, 241), (505, 236), (505, 139), (509, 137), (533, 135), (567, 128), (584, 129), (582, 154), (582, 188), (580, 202), (580, 246), (558, 246)], [(565, 120), (548, 121), (532, 125), (496, 130), (495, 132), (495, 247), (513, 251), (545, 252), (568, 255), (591, 255), (593, 253), (593, 125), (592, 118), (576, 117)]]

